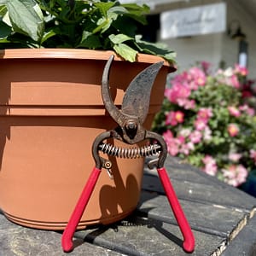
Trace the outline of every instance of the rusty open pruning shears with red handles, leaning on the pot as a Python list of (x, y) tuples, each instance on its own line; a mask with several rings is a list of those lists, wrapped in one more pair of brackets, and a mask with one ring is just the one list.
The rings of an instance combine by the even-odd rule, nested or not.
[[(166, 168), (164, 167), (167, 154), (166, 143), (159, 134), (153, 131), (148, 131), (143, 127), (143, 123), (148, 114), (150, 93), (154, 84), (154, 79), (159, 73), (163, 61), (147, 67), (131, 81), (131, 84), (125, 91), (122, 107), (119, 109), (113, 103), (108, 84), (109, 71), (113, 63), (113, 58), (113, 55), (110, 56), (102, 74), (102, 101), (110, 116), (117, 123), (117, 127), (111, 131), (102, 132), (96, 137), (92, 145), (92, 155), (96, 166), (90, 173), (90, 177), (84, 186), (79, 201), (63, 232), (61, 238), (62, 248), (64, 252), (73, 250), (74, 232), (77, 229), (79, 221), (84, 213), (84, 209), (90, 200), (90, 195), (96, 186), (102, 168), (105, 168), (108, 171), (110, 177), (113, 175), (111, 172), (112, 163), (110, 160), (106, 160), (99, 155), (99, 152), (101, 151), (108, 155), (123, 158), (137, 158), (149, 155), (156, 156), (155, 159), (148, 162), (148, 167), (150, 169), (154, 167), (157, 168), (160, 181), (166, 191), (170, 206), (172, 207), (172, 212), (174, 213), (177, 224), (183, 234), (183, 249), (188, 253), (192, 253), (195, 248), (195, 238), (183, 213), (183, 209), (177, 200), (177, 195), (172, 187)], [(154, 143), (142, 148), (119, 148), (104, 143), (108, 138), (118, 139), (131, 145), (148, 140)]]

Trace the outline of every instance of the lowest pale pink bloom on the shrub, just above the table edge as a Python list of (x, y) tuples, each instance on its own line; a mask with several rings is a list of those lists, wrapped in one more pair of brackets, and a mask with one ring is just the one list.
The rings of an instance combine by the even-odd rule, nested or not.
[(231, 165), (221, 170), (224, 174), (224, 182), (237, 187), (247, 179), (247, 169), (242, 165)]

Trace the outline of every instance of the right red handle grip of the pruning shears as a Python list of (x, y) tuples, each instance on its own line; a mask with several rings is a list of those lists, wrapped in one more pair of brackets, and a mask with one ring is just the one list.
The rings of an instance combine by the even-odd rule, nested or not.
[(157, 172), (159, 174), (160, 181), (166, 191), (166, 196), (170, 206), (172, 207), (172, 212), (174, 213), (174, 216), (177, 220), (177, 224), (183, 234), (183, 249), (187, 253), (192, 253), (195, 249), (195, 238), (189, 226), (189, 222), (183, 213), (183, 209), (177, 200), (177, 195), (172, 188), (172, 183), (167, 175), (166, 168), (159, 168), (157, 169)]

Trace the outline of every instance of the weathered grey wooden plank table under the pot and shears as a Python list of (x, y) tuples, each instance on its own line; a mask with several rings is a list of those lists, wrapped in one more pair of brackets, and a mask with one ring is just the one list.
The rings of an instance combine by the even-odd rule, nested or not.
[[(167, 158), (166, 169), (195, 235), (191, 255), (256, 255), (254, 197), (175, 158)], [(69, 255), (188, 255), (157, 173), (147, 167), (137, 210), (119, 223), (76, 232), (74, 244)], [(61, 232), (20, 227), (0, 214), (0, 255), (67, 253)]]

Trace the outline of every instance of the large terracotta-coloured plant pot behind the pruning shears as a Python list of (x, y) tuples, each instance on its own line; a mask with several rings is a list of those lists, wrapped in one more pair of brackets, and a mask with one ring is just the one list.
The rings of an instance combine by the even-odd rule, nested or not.
[[(103, 67), (112, 51), (7, 49), (0, 52), (0, 208), (11, 221), (45, 230), (63, 230), (95, 166), (91, 145), (115, 127), (102, 105)], [(110, 84), (120, 105), (126, 86), (148, 63), (113, 62)], [(152, 91), (148, 119), (163, 100), (168, 64)], [(114, 142), (117, 143), (117, 142)], [(107, 156), (105, 156), (107, 157)], [(112, 159), (111, 180), (103, 170), (79, 223), (108, 224), (137, 206), (143, 159)]]

